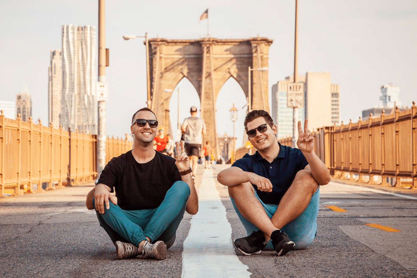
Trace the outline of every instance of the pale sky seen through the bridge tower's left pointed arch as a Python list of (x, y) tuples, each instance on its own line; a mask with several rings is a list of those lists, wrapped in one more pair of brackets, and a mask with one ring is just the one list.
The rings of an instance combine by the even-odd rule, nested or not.
[(178, 131), (178, 88), (179, 88), (179, 123), (183, 123), (185, 118), (190, 116), (191, 106), (197, 107), (197, 116), (200, 117), (201, 102), (200, 97), (188, 78), (183, 77), (175, 86), (169, 100), (169, 117), (171, 119), (171, 131), (168, 131), (172, 139), (177, 142), (181, 138), (181, 131)]

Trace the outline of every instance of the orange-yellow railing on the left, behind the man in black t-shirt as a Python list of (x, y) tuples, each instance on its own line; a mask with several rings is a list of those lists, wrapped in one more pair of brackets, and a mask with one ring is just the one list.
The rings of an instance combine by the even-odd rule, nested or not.
[[(129, 145), (130, 144), (130, 145)], [(106, 141), (107, 157), (118, 156), (132, 142)], [(125, 151), (126, 150), (126, 151)], [(110, 159), (108, 159), (110, 160)], [(43, 191), (68, 183), (93, 181), (97, 176), (97, 136), (54, 129), (0, 115), (0, 187), (5, 193)], [(47, 184), (45, 184), (47, 183)]]

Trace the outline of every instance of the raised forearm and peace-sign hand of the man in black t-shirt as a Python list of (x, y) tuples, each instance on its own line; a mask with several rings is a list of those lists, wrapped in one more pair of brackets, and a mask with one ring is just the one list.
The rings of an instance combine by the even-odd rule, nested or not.
[[(184, 152), (184, 141), (180, 143), (176, 142), (177, 148), (177, 161), (175, 162), (178, 167), (178, 171), (185, 171), (190, 169), (190, 158)], [(198, 196), (194, 181), (191, 178), (191, 173), (181, 176), (183, 182), (186, 182), (190, 187), (190, 197), (188, 197), (186, 212), (189, 214), (196, 214), (198, 212)]]

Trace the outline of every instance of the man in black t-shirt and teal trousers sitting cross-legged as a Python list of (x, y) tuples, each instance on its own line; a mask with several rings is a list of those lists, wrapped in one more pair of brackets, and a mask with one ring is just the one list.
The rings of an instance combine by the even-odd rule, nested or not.
[[(184, 142), (176, 143), (177, 159), (156, 152), (153, 139), (157, 127), (151, 109), (142, 108), (133, 114), (133, 149), (113, 157), (87, 195), (85, 204), (89, 210), (95, 209), (119, 259), (137, 255), (165, 259), (184, 212), (198, 211)], [(117, 203), (111, 195), (113, 190)]]

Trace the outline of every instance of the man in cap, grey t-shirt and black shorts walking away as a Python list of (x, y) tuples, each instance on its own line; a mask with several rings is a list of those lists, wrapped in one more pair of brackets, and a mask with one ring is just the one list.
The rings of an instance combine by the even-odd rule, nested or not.
[(206, 134), (206, 123), (197, 117), (197, 107), (191, 106), (191, 117), (184, 119), (181, 131), (184, 134), (185, 152), (190, 157), (191, 168), (193, 169), (193, 179), (197, 172), (198, 159), (201, 154), (201, 134)]

